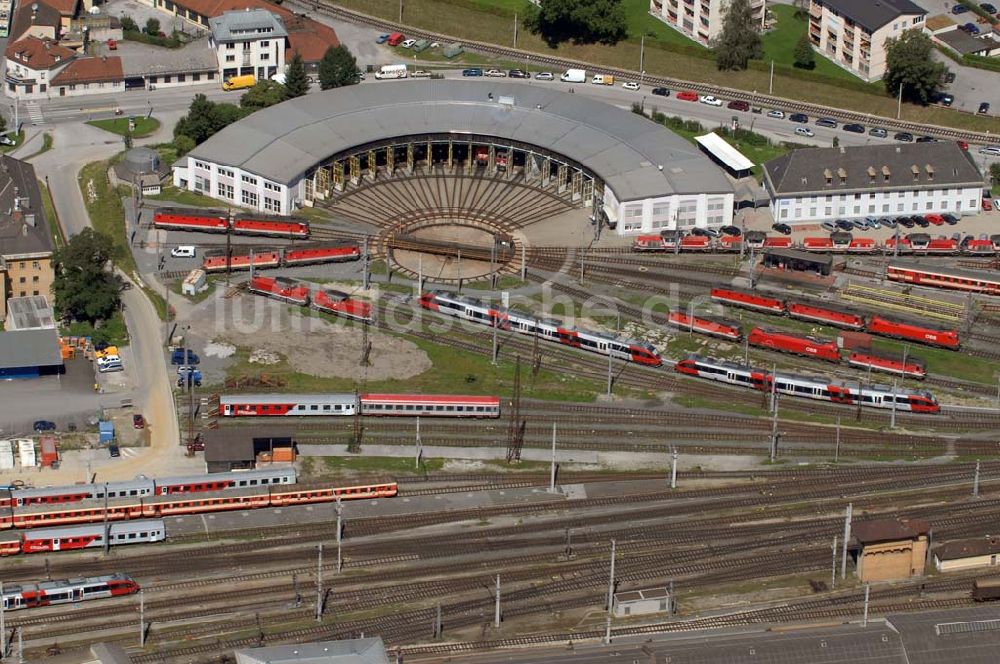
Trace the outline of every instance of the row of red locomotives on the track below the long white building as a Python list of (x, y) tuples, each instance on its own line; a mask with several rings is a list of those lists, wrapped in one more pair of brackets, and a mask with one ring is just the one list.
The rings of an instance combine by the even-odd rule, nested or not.
[[(897, 249), (897, 243), (899, 245)], [(747, 231), (745, 237), (723, 235), (713, 239), (704, 235), (681, 235), (662, 231), (660, 235), (640, 235), (632, 243), (636, 252), (732, 253), (747, 249), (799, 249), (830, 254), (904, 254), (919, 256), (996, 256), (1000, 254), (1000, 234), (989, 238), (938, 236), (929, 233), (907, 233), (879, 242), (874, 238), (856, 238), (851, 233), (837, 231), (826, 236), (806, 237), (799, 242), (790, 237), (771, 237), (762, 231)]]

